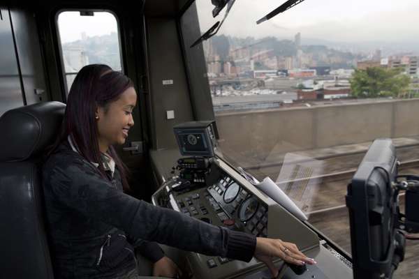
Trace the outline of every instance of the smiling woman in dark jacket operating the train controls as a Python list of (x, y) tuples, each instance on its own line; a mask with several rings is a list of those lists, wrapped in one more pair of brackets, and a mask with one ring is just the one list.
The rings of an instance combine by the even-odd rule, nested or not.
[(255, 256), (272, 275), (272, 257), (314, 264), (293, 243), (215, 227), (126, 195), (126, 167), (112, 145), (128, 137), (136, 102), (131, 80), (108, 66), (85, 66), (75, 77), (61, 136), (43, 167), (57, 278), (135, 278), (134, 250), (154, 262), (154, 276), (176, 276), (177, 266), (149, 241), (247, 262)]

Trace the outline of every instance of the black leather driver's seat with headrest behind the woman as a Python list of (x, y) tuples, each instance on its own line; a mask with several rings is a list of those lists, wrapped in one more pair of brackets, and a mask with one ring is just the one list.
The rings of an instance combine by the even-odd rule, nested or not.
[(0, 278), (54, 278), (39, 164), (66, 105), (38, 103), (0, 118)]

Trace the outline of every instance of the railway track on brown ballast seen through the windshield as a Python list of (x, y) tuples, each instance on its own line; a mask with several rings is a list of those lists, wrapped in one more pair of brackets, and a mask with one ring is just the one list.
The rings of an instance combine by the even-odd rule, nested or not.
[[(283, 183), (307, 183), (309, 179), (316, 179), (318, 187), (314, 193), (312, 210), (307, 213), (309, 223), (349, 253), (351, 253), (351, 234), (344, 197), (346, 186), (355, 174), (364, 155), (365, 151), (316, 158), (323, 160), (324, 174), (279, 183), (281, 186)], [(397, 148), (397, 158), (400, 160), (400, 174), (419, 174), (419, 146)], [(282, 163), (260, 165), (247, 167), (247, 171), (260, 180), (265, 176), (274, 179), (279, 174), (281, 167)], [(418, 255), (419, 241), (407, 241), (404, 262), (400, 264), (393, 278), (416, 278), (419, 273)]]

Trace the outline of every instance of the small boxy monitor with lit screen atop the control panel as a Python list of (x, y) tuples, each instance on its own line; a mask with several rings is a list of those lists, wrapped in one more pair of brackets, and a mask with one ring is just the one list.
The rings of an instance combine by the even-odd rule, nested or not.
[(216, 148), (215, 121), (191, 121), (173, 127), (182, 156), (213, 157)]

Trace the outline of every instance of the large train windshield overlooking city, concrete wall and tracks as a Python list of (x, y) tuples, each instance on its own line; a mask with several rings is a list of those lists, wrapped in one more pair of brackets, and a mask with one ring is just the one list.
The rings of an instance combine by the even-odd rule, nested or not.
[(185, 51), (205, 59), (224, 158), (270, 177), (350, 253), (346, 186), (369, 144), (392, 138), (402, 171), (417, 160), (419, 3), (306, 0), (256, 24), (284, 2), (235, 1), (219, 32), (190, 48), (224, 13), (196, 0), (181, 19)]

